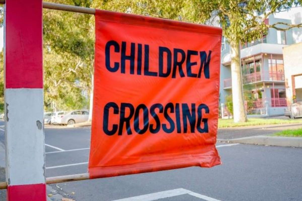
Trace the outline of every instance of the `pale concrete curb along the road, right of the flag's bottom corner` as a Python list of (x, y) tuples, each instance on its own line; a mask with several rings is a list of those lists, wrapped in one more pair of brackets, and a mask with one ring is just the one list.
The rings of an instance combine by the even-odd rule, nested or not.
[(302, 138), (300, 137), (252, 136), (236, 139), (217, 139), (217, 141), (252, 145), (270, 145), (280, 147), (302, 148)]

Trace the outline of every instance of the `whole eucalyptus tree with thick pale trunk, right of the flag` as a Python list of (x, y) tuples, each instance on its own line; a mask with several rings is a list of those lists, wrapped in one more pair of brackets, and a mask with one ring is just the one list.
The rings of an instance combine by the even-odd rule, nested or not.
[[(270, 14), (288, 10), (301, 4), (301, 0), (188, 0), (185, 10), (192, 10), (190, 21), (201, 22), (216, 16), (223, 29), (223, 35), (230, 44), (232, 99), (234, 122), (247, 121), (244, 109), (243, 81), (240, 65), (240, 43), (251, 42), (267, 34), (270, 28), (288, 30), (302, 27), (302, 24), (276, 22), (266, 24)], [(192, 3), (193, 2), (193, 3)], [(192, 6), (194, 5), (194, 6)]]

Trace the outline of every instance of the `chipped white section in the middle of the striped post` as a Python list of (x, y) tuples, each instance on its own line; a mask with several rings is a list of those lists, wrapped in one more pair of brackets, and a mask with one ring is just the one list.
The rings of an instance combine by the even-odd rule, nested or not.
[(5, 89), (5, 103), (9, 185), (45, 183), (43, 89)]

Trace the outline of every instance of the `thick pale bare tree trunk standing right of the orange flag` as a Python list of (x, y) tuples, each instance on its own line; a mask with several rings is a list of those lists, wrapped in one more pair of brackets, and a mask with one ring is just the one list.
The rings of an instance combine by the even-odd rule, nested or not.
[(246, 122), (239, 43), (230, 42), (234, 122)]

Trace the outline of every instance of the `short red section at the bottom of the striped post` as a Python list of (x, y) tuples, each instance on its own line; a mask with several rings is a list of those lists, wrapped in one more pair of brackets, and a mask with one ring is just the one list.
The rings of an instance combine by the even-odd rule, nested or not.
[(8, 186), (8, 201), (46, 201), (44, 183)]

